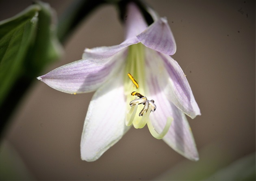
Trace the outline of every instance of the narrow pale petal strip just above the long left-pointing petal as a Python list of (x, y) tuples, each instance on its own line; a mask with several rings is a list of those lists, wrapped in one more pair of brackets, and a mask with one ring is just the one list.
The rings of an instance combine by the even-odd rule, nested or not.
[(132, 39), (127, 39), (119, 45), (114, 46), (103, 46), (103, 47), (94, 47), (94, 48), (86, 48), (84, 53), (82, 54), (82, 59), (91, 59), (91, 60), (104, 60), (109, 58), (126, 47), (139, 43), (137, 37), (133, 37)]

